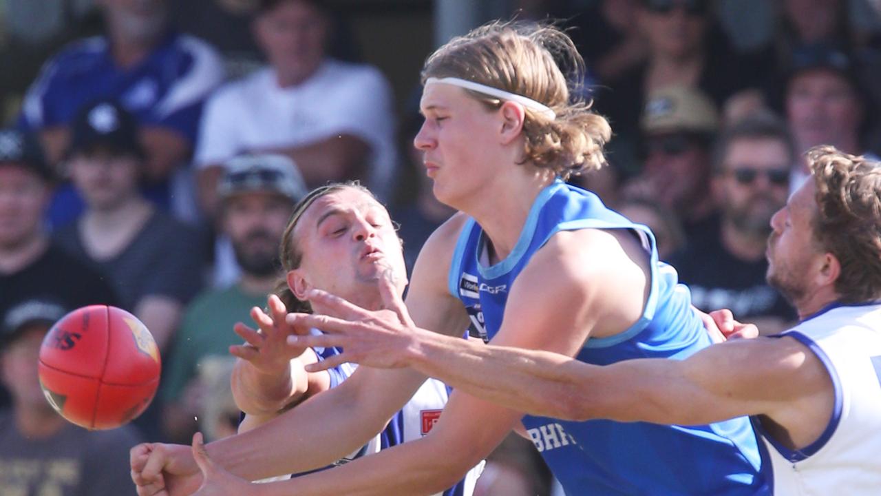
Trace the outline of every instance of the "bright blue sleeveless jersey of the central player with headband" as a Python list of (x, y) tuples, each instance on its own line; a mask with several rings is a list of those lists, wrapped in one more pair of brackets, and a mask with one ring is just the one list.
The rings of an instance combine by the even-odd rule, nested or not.
[[(641, 319), (621, 334), (590, 338), (578, 360), (603, 365), (630, 358), (682, 359), (710, 345), (692, 311), (688, 289), (677, 284), (672, 267), (658, 261), (648, 228), (612, 212), (593, 193), (561, 181), (539, 193), (514, 250), (498, 264), (480, 261), (485, 235), (473, 219), (465, 223), (448, 284), (468, 310), (472, 329), (492, 338), (501, 327), (517, 274), (556, 232), (575, 229), (628, 229), (651, 256), (651, 290)], [(570, 496), (769, 493), (756, 437), (745, 417), (684, 426), (528, 415), (523, 425)]]

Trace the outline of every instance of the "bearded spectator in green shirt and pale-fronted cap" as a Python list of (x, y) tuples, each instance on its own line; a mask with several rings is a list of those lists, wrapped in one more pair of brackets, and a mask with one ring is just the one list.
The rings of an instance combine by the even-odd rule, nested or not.
[(228, 356), (241, 340), (236, 322), (263, 307), (278, 281), (278, 240), (291, 209), (305, 194), (302, 177), (283, 155), (242, 155), (225, 165), (218, 185), (223, 233), (233, 244), (241, 277), (228, 288), (205, 291), (189, 304), (167, 365), (161, 397), (168, 403), (165, 427), (172, 439), (188, 440), (196, 431), (203, 385), (196, 379), (204, 357)]

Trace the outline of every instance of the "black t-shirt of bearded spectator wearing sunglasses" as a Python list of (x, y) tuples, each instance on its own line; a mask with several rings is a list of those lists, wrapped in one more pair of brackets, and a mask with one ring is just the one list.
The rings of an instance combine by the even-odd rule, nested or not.
[(670, 257), (679, 282), (692, 291), (694, 306), (704, 312), (729, 308), (739, 320), (762, 316), (796, 319), (795, 309), (768, 286), (765, 259), (737, 259), (722, 246), (718, 226), (704, 234)]

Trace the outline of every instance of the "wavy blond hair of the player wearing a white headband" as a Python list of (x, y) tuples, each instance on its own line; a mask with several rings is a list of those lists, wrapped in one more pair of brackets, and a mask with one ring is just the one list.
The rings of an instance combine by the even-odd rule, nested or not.
[[(567, 179), (602, 167), (603, 145), (611, 137), (603, 116), (592, 112), (581, 96), (574, 96), (581, 94), (583, 74), (581, 55), (557, 27), (493, 21), (437, 49), (426, 60), (422, 83), (428, 78), (460, 78), (544, 103), (556, 118), (526, 109), (523, 159)], [(490, 109), (503, 103), (464, 91)]]

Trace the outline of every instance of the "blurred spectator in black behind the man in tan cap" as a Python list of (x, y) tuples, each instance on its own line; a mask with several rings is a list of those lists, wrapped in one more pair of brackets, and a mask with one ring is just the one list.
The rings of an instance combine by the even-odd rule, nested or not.
[[(640, 0), (633, 21), (648, 42), (648, 60), (620, 78), (604, 81), (596, 109), (618, 136), (637, 133), (648, 94), (668, 86), (699, 88), (719, 108), (756, 84), (760, 67), (746, 70), (713, 23), (710, 0)], [(614, 139), (613, 139), (614, 141)]]

